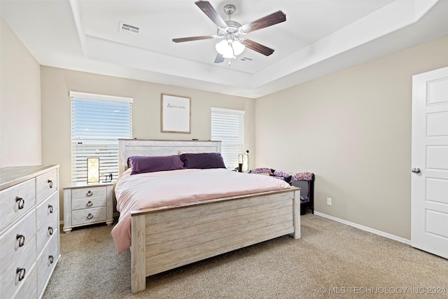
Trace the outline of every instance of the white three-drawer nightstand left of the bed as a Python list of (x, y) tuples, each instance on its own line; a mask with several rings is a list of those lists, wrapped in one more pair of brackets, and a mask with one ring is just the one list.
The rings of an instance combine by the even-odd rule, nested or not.
[(77, 226), (113, 223), (113, 182), (71, 183), (64, 187), (64, 232)]

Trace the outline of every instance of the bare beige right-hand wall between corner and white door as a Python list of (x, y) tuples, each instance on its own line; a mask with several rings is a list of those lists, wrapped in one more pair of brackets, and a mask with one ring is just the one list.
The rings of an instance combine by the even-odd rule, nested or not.
[(444, 36), (257, 99), (255, 165), (314, 172), (316, 211), (410, 239), (412, 75), (447, 65)]

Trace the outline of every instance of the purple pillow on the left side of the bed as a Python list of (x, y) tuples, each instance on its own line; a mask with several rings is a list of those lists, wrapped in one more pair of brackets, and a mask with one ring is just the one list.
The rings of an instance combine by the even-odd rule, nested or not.
[(183, 169), (183, 162), (179, 155), (167, 155), (163, 157), (132, 156), (128, 158), (128, 161), (132, 168), (131, 175)]

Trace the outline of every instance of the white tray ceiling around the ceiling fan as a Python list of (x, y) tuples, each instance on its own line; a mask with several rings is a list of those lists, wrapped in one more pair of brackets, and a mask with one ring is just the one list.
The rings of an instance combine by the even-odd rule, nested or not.
[(212, 0), (224, 20), (234, 4), (241, 25), (286, 14), (246, 35), (272, 55), (246, 48), (229, 66), (214, 63), (216, 40), (172, 42), (216, 34), (194, 2), (0, 0), (0, 13), (42, 65), (253, 98), (448, 34), (448, 0)]

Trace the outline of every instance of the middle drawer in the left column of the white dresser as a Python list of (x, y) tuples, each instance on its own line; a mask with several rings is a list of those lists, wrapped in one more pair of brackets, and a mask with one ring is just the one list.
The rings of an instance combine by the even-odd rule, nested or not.
[(0, 273), (18, 260), (29, 246), (34, 246), (36, 258), (36, 210), (20, 219), (0, 237)]

